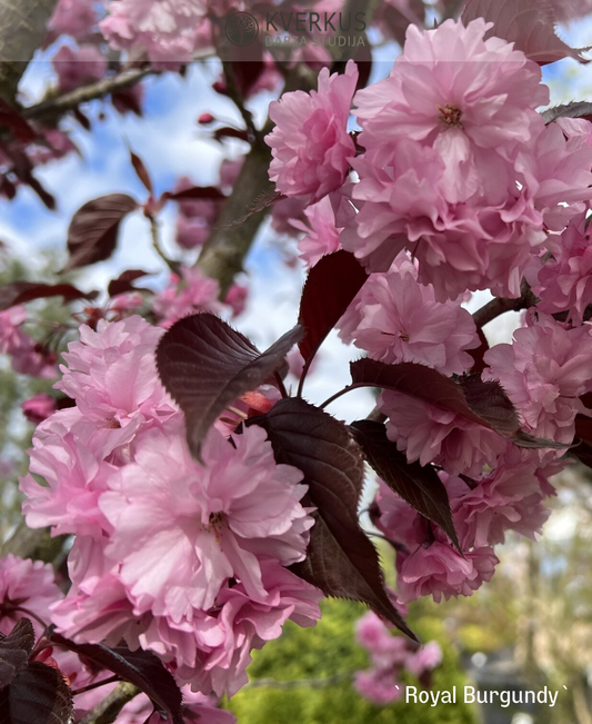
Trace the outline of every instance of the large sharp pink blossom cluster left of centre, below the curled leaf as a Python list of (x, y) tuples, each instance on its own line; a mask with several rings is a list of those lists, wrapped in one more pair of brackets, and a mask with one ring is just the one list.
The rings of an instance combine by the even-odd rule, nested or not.
[(261, 428), (229, 437), (221, 421), (202, 464), (191, 457), (155, 371), (162, 331), (138, 316), (81, 327), (57, 385), (76, 406), (37, 427), (23, 512), (76, 535), (72, 587), (51, 607), (61, 633), (123, 637), (194, 691), (232, 694), (253, 648), (320, 616), (320, 591), (288, 569), (313, 522), (302, 473), (274, 462)]

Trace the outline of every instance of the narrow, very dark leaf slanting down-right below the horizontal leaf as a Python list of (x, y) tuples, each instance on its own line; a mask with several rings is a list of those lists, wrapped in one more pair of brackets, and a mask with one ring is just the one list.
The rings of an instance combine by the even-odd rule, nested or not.
[(430, 465), (408, 463), (404, 454), (387, 437), (382, 423), (358, 420), (350, 427), (374, 473), (414, 510), (440, 526), (462, 554), (446, 488), (435, 469)]

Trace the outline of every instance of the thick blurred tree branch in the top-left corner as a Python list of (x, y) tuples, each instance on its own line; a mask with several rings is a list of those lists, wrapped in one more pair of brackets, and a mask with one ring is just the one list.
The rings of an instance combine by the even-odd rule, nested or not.
[(57, 4), (58, 0), (0, 0), (0, 96), (11, 105)]

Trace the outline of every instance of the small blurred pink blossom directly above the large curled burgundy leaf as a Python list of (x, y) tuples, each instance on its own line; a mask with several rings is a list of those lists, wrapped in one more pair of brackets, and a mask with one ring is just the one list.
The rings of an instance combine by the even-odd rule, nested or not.
[(181, 278), (171, 275), (170, 285), (154, 297), (152, 311), (165, 329), (181, 317), (198, 311), (218, 311), (220, 286), (203, 275), (198, 267), (182, 267)]

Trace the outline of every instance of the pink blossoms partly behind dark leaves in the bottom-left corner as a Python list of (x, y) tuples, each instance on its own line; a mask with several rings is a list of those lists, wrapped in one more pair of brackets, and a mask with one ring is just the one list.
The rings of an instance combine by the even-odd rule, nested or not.
[[(63, 599), (64, 594), (57, 585), (53, 568), (40, 561), (30, 561), (8, 555), (0, 558), (0, 632), (10, 634), (17, 623), (26, 617), (33, 625), (36, 636), (47, 633), (51, 621), (49, 611)], [(86, 688), (107, 678), (107, 673), (91, 667), (80, 656), (59, 646), (40, 648), (36, 661), (58, 668), (74, 690)], [(74, 696), (74, 721), (81, 721), (116, 684), (97, 686)], [(204, 724), (232, 724), (234, 716), (218, 708), (213, 697), (183, 688), (183, 702), (188, 716), (199, 717)], [(153, 705), (146, 694), (140, 694), (127, 704), (118, 722), (121, 724), (143, 724), (148, 721)]]

